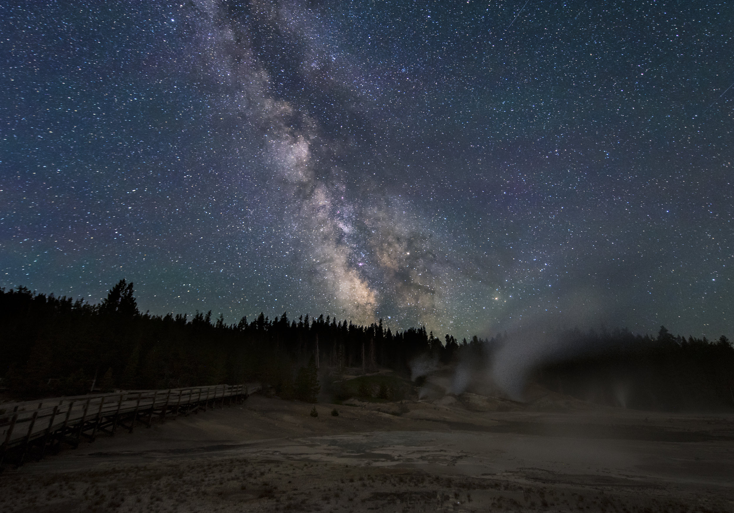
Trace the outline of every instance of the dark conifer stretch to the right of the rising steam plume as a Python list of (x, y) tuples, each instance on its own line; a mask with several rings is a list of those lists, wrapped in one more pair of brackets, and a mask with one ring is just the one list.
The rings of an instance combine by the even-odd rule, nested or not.
[(638, 410), (734, 410), (734, 348), (725, 336), (656, 338), (628, 330), (562, 334), (570, 353), (537, 369), (553, 391)]

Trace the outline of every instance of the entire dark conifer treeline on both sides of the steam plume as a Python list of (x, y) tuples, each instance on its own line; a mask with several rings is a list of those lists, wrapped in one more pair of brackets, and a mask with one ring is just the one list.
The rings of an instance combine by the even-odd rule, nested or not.
[[(535, 374), (554, 391), (639, 409), (734, 407), (734, 348), (724, 336), (685, 339), (662, 328), (656, 338), (616, 330), (570, 331), (561, 339), (567, 353)], [(434, 363), (469, 361), (486, 372), (505, 343), (504, 336), (458, 342), (425, 328), (393, 333), (382, 321), (289, 319), (285, 312), (229, 325), (211, 311), (142, 314), (125, 280), (98, 305), (0, 289), (0, 376), (18, 399), (84, 394), (92, 385), (112, 391), (261, 381), (280, 396), (315, 401), (345, 367), (407, 375), (421, 355)]]

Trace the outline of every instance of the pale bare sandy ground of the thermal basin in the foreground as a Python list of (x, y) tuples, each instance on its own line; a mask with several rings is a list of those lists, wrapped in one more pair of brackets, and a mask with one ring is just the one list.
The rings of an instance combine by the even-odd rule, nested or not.
[(734, 416), (334, 407), (251, 396), (98, 438), (6, 470), (0, 511), (734, 511)]

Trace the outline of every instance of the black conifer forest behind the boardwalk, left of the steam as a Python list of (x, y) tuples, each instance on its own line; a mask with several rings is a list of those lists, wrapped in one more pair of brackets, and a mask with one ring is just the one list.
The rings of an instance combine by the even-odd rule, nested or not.
[(433, 347), (450, 361), (458, 347), (452, 337), (444, 347), (425, 328), (393, 333), (382, 321), (363, 326), (323, 315), (288, 319), (284, 312), (228, 325), (211, 311), (141, 314), (133, 292), (122, 280), (102, 303), (90, 305), (23, 287), (0, 289), (6, 388), (30, 397), (84, 393), (92, 381), (101, 390), (263, 381), (304, 396), (305, 388), (314, 388), (317, 367), (402, 371), (413, 355)]

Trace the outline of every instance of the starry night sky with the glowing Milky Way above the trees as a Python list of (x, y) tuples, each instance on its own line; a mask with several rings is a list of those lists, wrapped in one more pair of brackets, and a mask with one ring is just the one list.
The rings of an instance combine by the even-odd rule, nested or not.
[(713, 338), (734, 4), (7, 1), (0, 286)]

